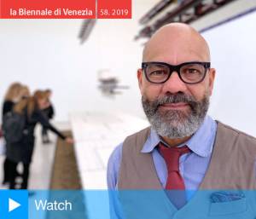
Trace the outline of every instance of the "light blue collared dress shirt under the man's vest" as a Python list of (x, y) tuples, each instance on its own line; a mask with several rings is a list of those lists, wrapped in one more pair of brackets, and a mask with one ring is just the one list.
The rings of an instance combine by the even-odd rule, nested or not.
[[(187, 200), (193, 196), (192, 191), (196, 191), (200, 186), (210, 163), (212, 147), (215, 141), (217, 123), (209, 116), (206, 116), (199, 130), (189, 139), (178, 147), (187, 145), (191, 153), (183, 154), (179, 159), (180, 174), (187, 191)], [(165, 159), (160, 155), (157, 146), (162, 141), (160, 136), (151, 129), (150, 135), (145, 142), (142, 153), (152, 153), (155, 170), (159, 177), (162, 187), (166, 187), (167, 167)], [(119, 167), (122, 158), (123, 143), (119, 144), (111, 154), (108, 160), (108, 189), (117, 189), (117, 180), (119, 176)], [(114, 207), (115, 204), (113, 204)], [(117, 207), (117, 206), (116, 206)], [(114, 210), (116, 211), (116, 210)], [(118, 214), (118, 212), (116, 212)], [(119, 218), (119, 217), (117, 217)]]

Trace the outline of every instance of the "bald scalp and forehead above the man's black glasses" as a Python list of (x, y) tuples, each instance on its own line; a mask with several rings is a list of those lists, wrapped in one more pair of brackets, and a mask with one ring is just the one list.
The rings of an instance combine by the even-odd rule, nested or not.
[(206, 40), (194, 28), (172, 23), (162, 26), (148, 40), (143, 49), (143, 61), (166, 61), (173, 65), (179, 61), (210, 61), (210, 50)]

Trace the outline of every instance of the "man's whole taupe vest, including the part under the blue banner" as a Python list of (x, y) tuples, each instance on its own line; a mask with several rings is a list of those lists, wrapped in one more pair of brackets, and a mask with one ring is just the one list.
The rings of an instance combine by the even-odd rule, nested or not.
[[(248, 216), (254, 214), (251, 212), (253, 209), (256, 210), (254, 198), (250, 201), (253, 207), (248, 208), (246, 201), (249, 198), (222, 205), (212, 204), (209, 197), (213, 190), (256, 188), (255, 138), (218, 122), (212, 158), (206, 176), (195, 198), (181, 210), (177, 210), (166, 198), (154, 168), (151, 153), (141, 153), (149, 134), (150, 128), (141, 130), (128, 136), (123, 143), (118, 189), (125, 218), (202, 219), (209, 217), (213, 219), (215, 217), (212, 216), (216, 215), (226, 216), (226, 219), (234, 218), (236, 214), (240, 216), (241, 213), (244, 214), (241, 218), (250, 218)], [(200, 193), (201, 191), (209, 191), (209, 193)]]

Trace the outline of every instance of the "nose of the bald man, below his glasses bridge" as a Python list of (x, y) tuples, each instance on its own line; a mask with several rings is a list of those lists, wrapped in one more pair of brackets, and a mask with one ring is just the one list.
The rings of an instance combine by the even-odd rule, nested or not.
[(164, 93), (176, 94), (179, 91), (184, 92), (186, 89), (186, 84), (179, 78), (177, 72), (172, 72), (171, 77), (163, 84)]

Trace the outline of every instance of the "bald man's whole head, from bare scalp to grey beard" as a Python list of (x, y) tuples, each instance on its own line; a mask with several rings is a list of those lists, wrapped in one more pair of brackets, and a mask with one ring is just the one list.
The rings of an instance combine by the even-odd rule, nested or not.
[(215, 78), (215, 69), (205, 66), (209, 61), (206, 40), (181, 23), (163, 26), (145, 46), (143, 62), (148, 63), (137, 71), (143, 109), (171, 146), (188, 141), (206, 117)]

